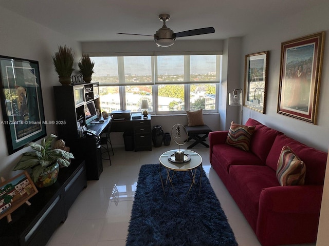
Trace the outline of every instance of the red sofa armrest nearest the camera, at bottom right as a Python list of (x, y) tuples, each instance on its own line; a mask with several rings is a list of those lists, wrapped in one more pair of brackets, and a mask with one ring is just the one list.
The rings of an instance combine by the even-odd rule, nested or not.
[(262, 245), (315, 242), (323, 186), (263, 189), (256, 234)]

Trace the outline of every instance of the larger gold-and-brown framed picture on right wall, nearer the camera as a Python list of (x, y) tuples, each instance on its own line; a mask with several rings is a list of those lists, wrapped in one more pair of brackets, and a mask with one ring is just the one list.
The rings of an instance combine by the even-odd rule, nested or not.
[(281, 44), (278, 113), (316, 124), (324, 32)]

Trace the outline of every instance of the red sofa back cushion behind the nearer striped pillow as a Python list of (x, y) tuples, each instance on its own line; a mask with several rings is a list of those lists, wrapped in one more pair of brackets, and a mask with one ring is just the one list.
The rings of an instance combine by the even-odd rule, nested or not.
[(306, 166), (305, 185), (323, 185), (327, 153), (308, 147), (286, 135), (278, 135), (266, 158), (266, 165), (277, 170), (283, 146), (289, 146)]

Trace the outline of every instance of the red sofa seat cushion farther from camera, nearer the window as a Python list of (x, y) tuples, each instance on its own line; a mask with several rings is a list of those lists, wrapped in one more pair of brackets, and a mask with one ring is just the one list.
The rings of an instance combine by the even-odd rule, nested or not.
[(212, 147), (212, 155), (216, 157), (219, 163), (212, 165), (224, 166), (227, 172), (232, 165), (264, 165), (252, 152), (246, 152), (226, 144), (217, 144)]

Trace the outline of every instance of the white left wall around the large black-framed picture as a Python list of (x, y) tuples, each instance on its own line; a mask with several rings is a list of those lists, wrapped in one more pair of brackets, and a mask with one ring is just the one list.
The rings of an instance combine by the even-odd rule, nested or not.
[[(58, 32), (54, 32), (20, 15), (0, 7), (0, 55), (39, 61), (40, 79), (43, 96), (45, 119), (56, 119), (53, 105), (53, 86), (61, 85), (54, 71), (51, 55), (57, 51), (58, 45), (72, 47), (77, 57), (81, 56), (81, 46)], [(0, 121), (3, 120), (0, 113)], [(47, 134), (55, 133), (56, 126), (47, 125)], [(0, 125), (0, 176), (6, 179), (20, 171), (11, 171), (25, 150), (8, 156), (6, 134)]]

